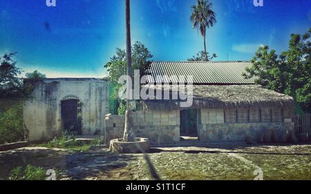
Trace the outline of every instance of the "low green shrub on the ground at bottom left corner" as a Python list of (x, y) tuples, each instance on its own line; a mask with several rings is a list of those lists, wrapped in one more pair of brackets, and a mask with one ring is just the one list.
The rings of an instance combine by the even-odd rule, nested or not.
[(11, 171), (9, 180), (46, 180), (46, 171), (39, 166), (26, 166), (23, 171), (21, 166), (14, 168)]

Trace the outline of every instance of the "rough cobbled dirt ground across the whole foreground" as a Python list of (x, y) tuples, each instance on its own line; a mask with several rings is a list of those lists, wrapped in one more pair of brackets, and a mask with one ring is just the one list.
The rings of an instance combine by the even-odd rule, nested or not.
[(0, 180), (17, 166), (59, 169), (61, 180), (311, 180), (311, 145), (207, 144), (157, 147), (147, 154), (116, 155), (28, 147), (0, 152)]

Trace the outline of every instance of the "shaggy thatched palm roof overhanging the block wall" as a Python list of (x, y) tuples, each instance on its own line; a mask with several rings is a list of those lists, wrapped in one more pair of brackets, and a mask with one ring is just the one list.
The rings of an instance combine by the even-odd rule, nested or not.
[[(178, 91), (177, 86), (144, 86), (156, 90)], [(194, 101), (189, 108), (248, 108), (267, 106), (294, 106), (294, 100), (288, 95), (267, 90), (259, 85), (231, 85), (231, 86), (193, 86)], [(156, 93), (155, 93), (156, 95)], [(148, 99), (141, 101), (144, 110), (173, 110), (180, 108), (180, 99)]]

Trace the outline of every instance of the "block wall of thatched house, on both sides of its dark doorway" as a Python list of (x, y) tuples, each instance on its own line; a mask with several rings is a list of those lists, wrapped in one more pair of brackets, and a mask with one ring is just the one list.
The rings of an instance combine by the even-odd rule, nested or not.
[[(225, 123), (223, 109), (201, 109), (198, 139), (202, 142), (240, 142), (246, 136), (256, 141), (274, 131), (279, 139), (294, 130), (294, 123), (284, 115), (283, 122)], [(147, 137), (151, 144), (172, 144), (180, 140), (180, 111), (137, 111), (132, 114), (137, 137)], [(106, 142), (123, 137), (124, 116), (107, 115)]]

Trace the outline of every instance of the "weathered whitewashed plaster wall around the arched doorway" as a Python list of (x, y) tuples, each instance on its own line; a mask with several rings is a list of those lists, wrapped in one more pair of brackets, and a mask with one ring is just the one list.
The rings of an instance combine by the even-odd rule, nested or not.
[(23, 122), (31, 142), (52, 139), (62, 133), (61, 101), (71, 98), (82, 101), (82, 134), (104, 134), (104, 116), (109, 111), (106, 80), (59, 78), (32, 84), (32, 98), (23, 106)]

